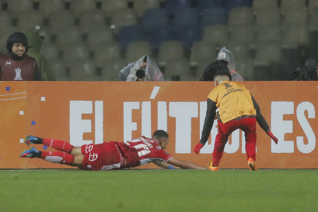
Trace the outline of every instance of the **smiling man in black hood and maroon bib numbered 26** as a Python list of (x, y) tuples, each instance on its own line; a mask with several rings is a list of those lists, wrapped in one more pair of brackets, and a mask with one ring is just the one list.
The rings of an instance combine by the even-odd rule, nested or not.
[(42, 75), (37, 62), (26, 54), (28, 40), (22, 32), (14, 32), (7, 39), (7, 54), (0, 56), (0, 81), (38, 81)]

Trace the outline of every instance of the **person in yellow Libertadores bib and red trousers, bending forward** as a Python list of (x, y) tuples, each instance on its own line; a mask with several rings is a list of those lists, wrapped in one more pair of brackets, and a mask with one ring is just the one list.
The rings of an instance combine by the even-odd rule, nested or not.
[(214, 76), (215, 88), (209, 93), (207, 111), (200, 142), (195, 146), (194, 152), (199, 150), (208, 140), (211, 132), (216, 110), (218, 108), (218, 134), (215, 138), (212, 161), (208, 163), (211, 171), (217, 171), (223, 156), (225, 144), (229, 135), (236, 129), (245, 132), (245, 150), (250, 170), (257, 170), (256, 160), (256, 121), (260, 127), (277, 144), (278, 140), (270, 131), (266, 120), (260, 113), (259, 106), (245, 85), (231, 81), (228, 68), (221, 68)]

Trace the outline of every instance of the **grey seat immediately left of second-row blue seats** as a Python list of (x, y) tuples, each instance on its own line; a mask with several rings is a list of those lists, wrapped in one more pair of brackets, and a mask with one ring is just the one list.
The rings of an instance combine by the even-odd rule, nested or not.
[(137, 13), (130, 8), (116, 9), (111, 16), (111, 24), (118, 31), (123, 26), (137, 24)]

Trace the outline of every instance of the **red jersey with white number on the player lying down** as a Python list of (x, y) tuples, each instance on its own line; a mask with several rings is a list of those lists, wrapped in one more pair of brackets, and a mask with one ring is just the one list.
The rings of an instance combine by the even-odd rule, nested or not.
[(146, 138), (144, 136), (128, 140), (124, 142), (128, 146), (134, 147), (138, 152), (140, 165), (144, 165), (154, 161), (167, 162), (172, 155), (162, 150), (154, 138)]

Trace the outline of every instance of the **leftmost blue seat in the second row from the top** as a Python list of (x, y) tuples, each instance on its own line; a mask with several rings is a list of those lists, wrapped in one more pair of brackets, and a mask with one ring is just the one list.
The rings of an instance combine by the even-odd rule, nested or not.
[(168, 24), (168, 11), (162, 8), (145, 10), (142, 17), (144, 32), (150, 32)]

